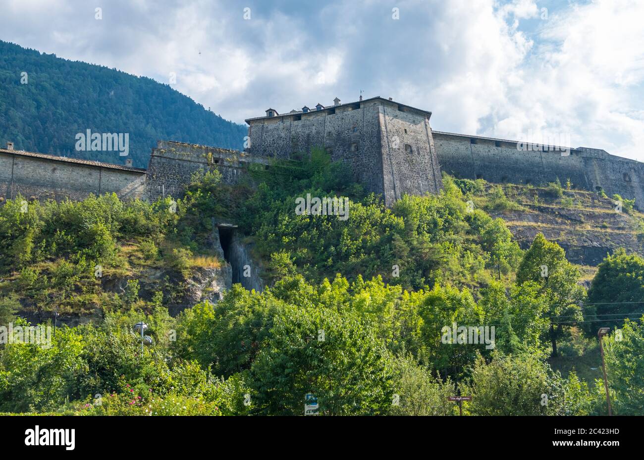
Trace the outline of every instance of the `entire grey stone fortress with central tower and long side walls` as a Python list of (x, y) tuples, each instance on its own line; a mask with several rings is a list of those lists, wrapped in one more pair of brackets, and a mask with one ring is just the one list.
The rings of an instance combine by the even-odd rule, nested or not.
[(81, 199), (105, 192), (125, 199), (178, 197), (196, 170), (216, 168), (226, 183), (236, 183), (249, 163), (269, 167), (272, 158), (297, 160), (319, 147), (345, 163), (355, 180), (381, 194), (388, 206), (403, 194), (437, 192), (444, 171), (495, 183), (570, 179), (576, 189), (620, 194), (644, 208), (644, 163), (585, 147), (520, 151), (514, 140), (433, 131), (430, 117), (429, 111), (381, 97), (348, 104), (336, 98), (330, 106), (282, 114), (268, 109), (265, 116), (246, 120), (245, 151), (162, 140), (152, 149), (147, 169), (133, 168), (128, 160), (113, 165), (15, 151), (8, 143), (0, 149), (0, 201), (19, 193), (26, 199)]

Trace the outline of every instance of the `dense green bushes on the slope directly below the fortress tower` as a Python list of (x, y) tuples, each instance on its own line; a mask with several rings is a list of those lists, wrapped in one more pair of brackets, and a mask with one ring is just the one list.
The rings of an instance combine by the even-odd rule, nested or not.
[[(486, 269), (498, 265), (497, 271), (507, 275), (518, 265), (521, 250), (503, 221), (469, 210), (447, 176), (441, 194), (404, 196), (387, 209), (347, 181), (340, 167), (314, 151), (308, 161), (256, 172), (262, 185), (238, 219), (261, 241), (261, 259), (280, 253), (314, 282), (336, 273), (351, 279), (381, 275), (407, 289), (447, 280), (478, 286), (489, 279)], [(297, 215), (296, 199), (307, 194), (348, 197), (348, 219)], [(283, 267), (270, 267), (267, 278), (273, 279), (275, 270)]]

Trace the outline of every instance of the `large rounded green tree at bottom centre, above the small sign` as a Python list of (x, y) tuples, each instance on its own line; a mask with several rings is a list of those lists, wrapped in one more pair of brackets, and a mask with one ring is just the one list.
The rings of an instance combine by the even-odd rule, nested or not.
[(393, 398), (386, 356), (383, 342), (354, 313), (281, 309), (252, 363), (254, 411), (303, 414), (310, 393), (321, 414), (384, 414)]

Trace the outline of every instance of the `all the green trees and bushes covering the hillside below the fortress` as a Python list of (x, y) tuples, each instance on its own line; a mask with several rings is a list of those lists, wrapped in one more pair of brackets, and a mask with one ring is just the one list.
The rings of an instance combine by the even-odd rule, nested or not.
[[(482, 209), (506, 207), (505, 195), (473, 208), (480, 184), (446, 176), (440, 194), (388, 209), (347, 185), (321, 152), (251, 174), (256, 189), (200, 172), (176, 203), (7, 201), (0, 319), (24, 327), (15, 313), (33, 309), (99, 309), (100, 317), (59, 325), (51, 346), (0, 345), (0, 411), (303, 414), (313, 394), (324, 415), (455, 415), (448, 396), (471, 394), (464, 414), (605, 414), (603, 382), (562, 376), (548, 363), (571, 331), (595, 329), (582, 316), (579, 273), (541, 234), (518, 248)], [(307, 193), (350, 198), (348, 219), (296, 214), (295, 199)], [(267, 287), (235, 284), (215, 304), (172, 317), (197, 261), (213, 257), (217, 219), (245, 230)], [(591, 295), (626, 295), (638, 263), (609, 257)], [(171, 275), (158, 289), (141, 275), (150, 267)], [(118, 277), (110, 288), (105, 278)], [(604, 279), (616, 284), (602, 288)], [(133, 331), (140, 320), (153, 340), (143, 352)], [(457, 326), (469, 326), (471, 339), (445, 332)], [(489, 342), (483, 329), (494, 331)], [(627, 322), (604, 339), (619, 414), (642, 410), (643, 331)]]

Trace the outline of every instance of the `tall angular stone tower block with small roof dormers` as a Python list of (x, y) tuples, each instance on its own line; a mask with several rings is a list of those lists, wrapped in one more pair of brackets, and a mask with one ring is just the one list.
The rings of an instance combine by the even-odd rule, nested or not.
[(387, 206), (403, 194), (436, 193), (442, 179), (430, 127), (431, 112), (374, 97), (350, 104), (317, 104), (249, 118), (251, 156), (297, 158), (314, 147), (343, 161), (355, 180), (382, 194)]

